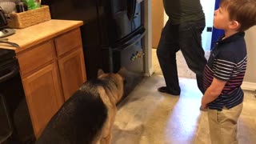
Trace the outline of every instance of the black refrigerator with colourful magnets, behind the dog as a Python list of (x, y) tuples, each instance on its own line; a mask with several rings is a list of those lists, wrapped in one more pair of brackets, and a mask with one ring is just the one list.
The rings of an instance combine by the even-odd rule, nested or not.
[[(82, 20), (82, 45), (87, 78), (98, 69), (117, 72), (121, 66), (132, 74), (126, 94), (144, 74), (142, 4), (138, 0), (42, 0), (51, 18)], [(129, 82), (129, 81), (127, 81)], [(127, 86), (129, 88), (127, 88)]]

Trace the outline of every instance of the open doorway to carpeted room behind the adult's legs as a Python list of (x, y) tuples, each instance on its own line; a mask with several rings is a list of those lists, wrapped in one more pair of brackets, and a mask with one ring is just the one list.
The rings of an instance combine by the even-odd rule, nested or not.
[[(202, 47), (206, 52), (206, 58), (209, 58), (212, 40), (215, 0), (200, 1), (206, 15), (206, 28), (202, 32)], [(162, 0), (152, 0), (152, 65), (154, 68), (154, 74), (162, 75), (162, 70), (160, 69), (158, 58), (156, 56), (156, 49), (161, 35), (162, 27), (165, 25), (167, 20), (168, 16), (164, 12)], [(195, 74), (186, 65), (185, 58), (183, 57), (181, 51), (178, 51), (176, 57), (178, 77), (195, 78)]]

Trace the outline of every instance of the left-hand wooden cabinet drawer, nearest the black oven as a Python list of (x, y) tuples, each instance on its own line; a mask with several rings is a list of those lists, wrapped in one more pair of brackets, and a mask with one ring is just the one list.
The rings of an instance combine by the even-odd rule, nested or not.
[(21, 75), (29, 74), (54, 59), (54, 42), (48, 41), (17, 56)]

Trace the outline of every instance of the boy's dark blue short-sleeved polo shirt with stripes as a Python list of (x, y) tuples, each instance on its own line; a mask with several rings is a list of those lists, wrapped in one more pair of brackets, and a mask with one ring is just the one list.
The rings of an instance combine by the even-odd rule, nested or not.
[(245, 33), (219, 38), (204, 70), (203, 85), (207, 89), (214, 78), (226, 81), (222, 93), (208, 107), (213, 110), (230, 109), (243, 101), (242, 81), (246, 72), (247, 52)]

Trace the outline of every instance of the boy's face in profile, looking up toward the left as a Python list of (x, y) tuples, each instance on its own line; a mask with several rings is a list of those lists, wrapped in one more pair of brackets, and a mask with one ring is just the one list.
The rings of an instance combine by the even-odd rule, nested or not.
[(226, 8), (220, 6), (214, 11), (214, 27), (216, 29), (228, 30), (230, 25), (230, 16)]

